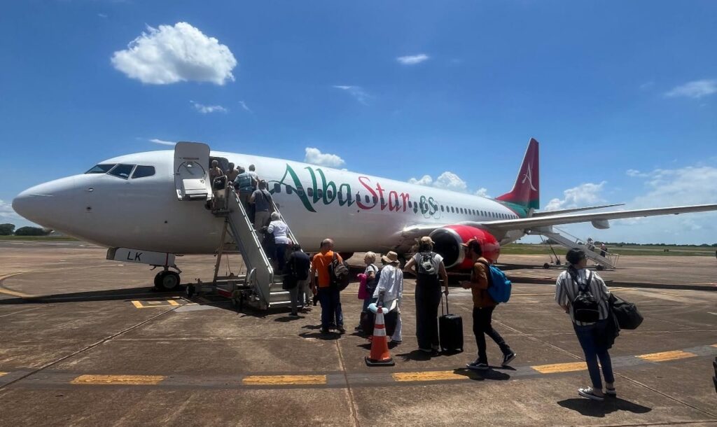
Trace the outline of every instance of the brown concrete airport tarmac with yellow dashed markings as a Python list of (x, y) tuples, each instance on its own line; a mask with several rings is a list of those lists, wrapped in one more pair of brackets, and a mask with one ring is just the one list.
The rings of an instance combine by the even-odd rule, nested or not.
[[(237, 312), (221, 297), (153, 291), (155, 272), (105, 260), (79, 242), (0, 242), (0, 425), (717, 425), (717, 262), (622, 256), (599, 272), (645, 317), (611, 350), (617, 398), (589, 385), (569, 317), (554, 302), (547, 256), (501, 257), (513, 295), (493, 317), (518, 353), (475, 373), (470, 292), (450, 289), (465, 349), (417, 351), (407, 274), (393, 367), (367, 367), (353, 332), (356, 284), (342, 293), (345, 335), (319, 333), (320, 307)], [(212, 277), (212, 256), (182, 256), (182, 282)], [(351, 264), (361, 263), (354, 256)], [(224, 264), (226, 265), (226, 263)], [(229, 266), (239, 273), (239, 256)], [(226, 267), (222, 267), (226, 269)]]

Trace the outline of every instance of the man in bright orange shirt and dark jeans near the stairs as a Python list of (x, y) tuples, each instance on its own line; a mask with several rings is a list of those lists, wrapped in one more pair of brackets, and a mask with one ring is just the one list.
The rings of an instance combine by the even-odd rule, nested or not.
[[(346, 332), (343, 328), (343, 312), (341, 312), (341, 290), (337, 283), (336, 266), (341, 264), (341, 255), (333, 251), (333, 240), (323, 239), (321, 251), (315, 254), (311, 262), (311, 289), (316, 289), (318, 299), (321, 302), (321, 333), (328, 334), (331, 328), (336, 328), (342, 334)], [(316, 286), (316, 274), (318, 273), (318, 287)], [(334, 273), (334, 274), (333, 274)], [(348, 274), (348, 270), (346, 271)]]

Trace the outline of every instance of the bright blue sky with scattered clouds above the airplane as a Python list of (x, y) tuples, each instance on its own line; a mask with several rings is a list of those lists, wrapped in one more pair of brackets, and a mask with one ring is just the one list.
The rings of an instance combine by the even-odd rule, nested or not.
[[(542, 206), (717, 202), (713, 1), (254, 3), (4, 2), (0, 221), (26, 224), (9, 208), (24, 188), (166, 148), (153, 139), (294, 160), (317, 148), (352, 171), (498, 196), (533, 136)], [(566, 229), (715, 243), (716, 220)]]

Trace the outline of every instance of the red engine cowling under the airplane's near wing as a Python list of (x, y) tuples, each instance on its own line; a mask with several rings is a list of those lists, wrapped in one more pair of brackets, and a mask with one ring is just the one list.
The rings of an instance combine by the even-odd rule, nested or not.
[(480, 242), (485, 259), (495, 262), (500, 254), (500, 244), (493, 234), (471, 226), (441, 227), (435, 229), (430, 237), (434, 242), (433, 250), (443, 256), (443, 264), (446, 268), (470, 269), (473, 267), (473, 262), (466, 258), (465, 250), (461, 246), (470, 239)]

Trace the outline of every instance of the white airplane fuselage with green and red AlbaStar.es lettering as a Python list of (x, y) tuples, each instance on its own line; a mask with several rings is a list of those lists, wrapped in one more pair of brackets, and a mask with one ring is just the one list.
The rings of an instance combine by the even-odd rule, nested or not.
[[(222, 152), (212, 156), (245, 168), (256, 165), (290, 229), (309, 251), (326, 237), (334, 239), (340, 251), (406, 251), (413, 244), (401, 235), (407, 227), (518, 218), (503, 204), (480, 196), (290, 160)], [(224, 220), (201, 201), (177, 198), (171, 150), (101, 163), (153, 166), (155, 173), (143, 178), (105, 173), (62, 178), (21, 193), (14, 200), (15, 210), (37, 224), (102, 246), (173, 254), (217, 249)], [(507, 243), (522, 235), (516, 231), (495, 237)]]

